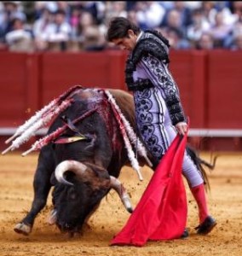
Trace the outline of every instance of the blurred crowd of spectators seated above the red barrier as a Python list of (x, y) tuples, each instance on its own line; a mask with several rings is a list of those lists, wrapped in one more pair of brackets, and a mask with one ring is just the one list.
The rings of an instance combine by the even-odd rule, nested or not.
[(114, 16), (162, 32), (172, 49), (242, 49), (242, 1), (2, 1), (0, 50), (109, 49)]

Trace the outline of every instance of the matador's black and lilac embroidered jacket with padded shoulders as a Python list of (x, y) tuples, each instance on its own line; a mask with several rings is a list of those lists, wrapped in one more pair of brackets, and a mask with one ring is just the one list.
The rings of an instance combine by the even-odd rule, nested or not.
[[(125, 82), (129, 90), (146, 90), (158, 87), (163, 90), (164, 101), (170, 113), (172, 125), (185, 121), (185, 115), (180, 101), (179, 90), (174, 79), (168, 70), (170, 44), (161, 33), (147, 30), (143, 32), (141, 38), (135, 45), (135, 49), (130, 53), (126, 61)], [(143, 61), (147, 64), (147, 69), (153, 69), (149, 76), (137, 76), (134, 73), (137, 66)], [(152, 67), (152, 68), (151, 68)], [(148, 73), (148, 72), (147, 72)], [(156, 76), (156, 78), (151, 79)], [(156, 83), (155, 81), (158, 81)]]

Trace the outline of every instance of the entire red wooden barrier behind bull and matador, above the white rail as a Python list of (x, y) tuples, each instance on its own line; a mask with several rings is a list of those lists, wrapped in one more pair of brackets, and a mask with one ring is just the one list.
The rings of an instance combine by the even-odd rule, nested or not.
[[(38, 109), (76, 84), (127, 90), (126, 53), (119, 50), (1, 52), (0, 58), (0, 128), (23, 124)], [(170, 69), (192, 129), (242, 129), (241, 61), (241, 51), (171, 50)], [(242, 148), (241, 138), (235, 138), (234, 142), (236, 145), (232, 146)]]

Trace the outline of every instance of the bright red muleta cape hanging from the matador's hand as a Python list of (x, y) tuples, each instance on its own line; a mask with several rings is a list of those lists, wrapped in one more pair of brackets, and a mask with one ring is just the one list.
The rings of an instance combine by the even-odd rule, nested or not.
[(187, 223), (187, 196), (182, 161), (187, 144), (177, 134), (159, 162), (141, 200), (111, 245), (141, 247), (147, 241), (180, 238)]

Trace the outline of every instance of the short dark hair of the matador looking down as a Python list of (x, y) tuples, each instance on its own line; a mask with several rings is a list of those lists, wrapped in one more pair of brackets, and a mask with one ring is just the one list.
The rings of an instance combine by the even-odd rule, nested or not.
[(107, 41), (112, 42), (113, 39), (128, 38), (128, 30), (132, 30), (135, 35), (141, 32), (140, 27), (136, 26), (130, 20), (124, 17), (115, 17), (109, 23), (107, 30)]

